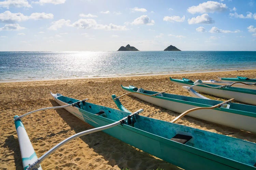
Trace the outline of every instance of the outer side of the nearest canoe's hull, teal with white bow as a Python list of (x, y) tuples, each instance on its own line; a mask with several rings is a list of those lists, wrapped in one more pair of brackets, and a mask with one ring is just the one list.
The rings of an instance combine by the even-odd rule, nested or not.
[[(56, 98), (54, 99), (60, 105), (67, 104)], [(79, 108), (74, 109), (72, 106), (65, 107), (65, 109), (76, 117), (79, 117), (77, 115), (86, 117), (84, 121), (94, 127), (104, 126), (114, 122), (111, 119), (91, 114)], [(148, 119), (148, 121), (150, 124), (150, 119)], [(103, 132), (184, 169), (255, 169), (252, 166), (241, 164), (231, 159), (173, 142), (157, 135), (149, 134), (126, 124), (123, 124), (123, 126), (117, 125)], [(176, 133), (178, 134), (179, 132)]]

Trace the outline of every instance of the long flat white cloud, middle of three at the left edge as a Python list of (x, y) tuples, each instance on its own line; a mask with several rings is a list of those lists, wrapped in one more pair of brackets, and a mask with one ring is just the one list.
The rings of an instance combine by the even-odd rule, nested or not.
[(32, 13), (30, 16), (23, 15), (22, 13), (11, 13), (10, 11), (5, 11), (0, 13), (0, 22), (14, 23), (26, 21), (28, 19), (38, 20), (38, 19), (52, 19), (53, 14), (46, 13)]

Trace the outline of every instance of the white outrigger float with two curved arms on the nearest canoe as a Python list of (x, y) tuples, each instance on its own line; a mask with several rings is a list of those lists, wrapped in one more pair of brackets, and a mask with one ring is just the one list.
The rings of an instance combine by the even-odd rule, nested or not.
[[(81, 101), (86, 101), (86, 100), (88, 100), (88, 99), (81, 100)], [(77, 102), (75, 102), (75, 103), (77, 103)], [(75, 104), (75, 103), (72, 103), (72, 104)], [(43, 111), (43, 110), (46, 110), (46, 109), (57, 109), (57, 108), (68, 107), (68, 106), (71, 106), (72, 104), (64, 105), (64, 106), (57, 106), (57, 107), (42, 108), (42, 109), (38, 109), (36, 111), (29, 112), (29, 113), (24, 114), (22, 116), (17, 116), (17, 115), (14, 116), (14, 123), (15, 123), (15, 128), (16, 128), (16, 131), (17, 131), (18, 140), (19, 140), (19, 148), (20, 148), (20, 153), (22, 155), (22, 164), (23, 164), (24, 170), (35, 170), (35, 169), (42, 170), (42, 167), (41, 167), (40, 163), (42, 163), (42, 161), (45, 158), (47, 158), (54, 151), (56, 151), (57, 149), (59, 149), (60, 147), (62, 147), (66, 143), (68, 143), (69, 141), (71, 141), (75, 138), (78, 138), (80, 136), (83, 136), (83, 135), (87, 135), (87, 134), (90, 134), (90, 133), (94, 133), (94, 132), (98, 132), (98, 131), (102, 131), (102, 130), (105, 130), (105, 129), (112, 128), (114, 126), (117, 126), (118, 124), (122, 124), (124, 121), (126, 121), (128, 119), (128, 116), (127, 116), (127, 117), (125, 117), (125, 118), (123, 118), (119, 121), (116, 121), (112, 124), (108, 124), (108, 125), (105, 125), (105, 126), (101, 126), (101, 127), (98, 127), (98, 128), (94, 128), (94, 129), (90, 129), (90, 130), (87, 130), (87, 131), (83, 131), (83, 132), (74, 134), (74, 135), (68, 137), (67, 139), (61, 141), (60, 143), (58, 143), (56, 146), (54, 146), (52, 149), (50, 149), (45, 154), (43, 154), (40, 158), (38, 158), (37, 154), (34, 151), (34, 148), (33, 148), (32, 144), (29, 140), (28, 134), (27, 134), (27, 132), (24, 128), (24, 125), (23, 125), (20, 118), (22, 118), (24, 116), (27, 116), (27, 115), (29, 115), (31, 113), (34, 113), (34, 112)], [(138, 111), (130, 114), (129, 116), (139, 114), (141, 112), (143, 112), (143, 109), (139, 109)]]

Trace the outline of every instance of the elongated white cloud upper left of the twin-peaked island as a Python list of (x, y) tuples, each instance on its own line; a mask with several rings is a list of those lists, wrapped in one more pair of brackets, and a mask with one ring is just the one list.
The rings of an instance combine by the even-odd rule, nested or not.
[(126, 26), (117, 26), (115, 24), (110, 23), (109, 25), (97, 24), (94, 19), (79, 19), (78, 21), (72, 24), (73, 27), (78, 27), (82, 29), (99, 29), (99, 30), (117, 30), (124, 31), (128, 30)]

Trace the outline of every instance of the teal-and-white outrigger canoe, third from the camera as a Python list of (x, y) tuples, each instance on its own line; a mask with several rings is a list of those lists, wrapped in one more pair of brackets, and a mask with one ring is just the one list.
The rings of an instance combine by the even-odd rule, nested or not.
[(236, 101), (256, 105), (256, 90), (254, 89), (246, 89), (246, 88), (237, 88), (230, 86), (222, 86), (215, 84), (202, 84), (193, 82), (189, 79), (183, 78), (183, 80), (172, 79), (170, 80), (181, 86), (193, 86), (193, 89), (199, 92), (203, 92), (205, 94), (222, 97), (226, 99), (235, 99)]

